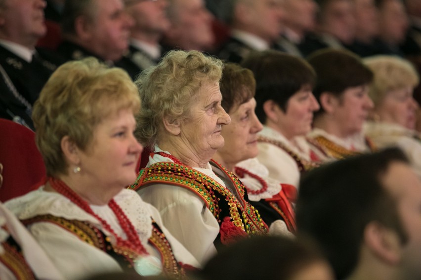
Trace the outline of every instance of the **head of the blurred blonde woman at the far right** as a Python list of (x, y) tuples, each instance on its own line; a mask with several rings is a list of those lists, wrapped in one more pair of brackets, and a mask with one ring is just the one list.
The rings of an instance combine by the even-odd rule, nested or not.
[(386, 55), (366, 58), (364, 64), (374, 73), (369, 91), (373, 120), (415, 129), (418, 104), (413, 92), (420, 78), (414, 66), (403, 58)]

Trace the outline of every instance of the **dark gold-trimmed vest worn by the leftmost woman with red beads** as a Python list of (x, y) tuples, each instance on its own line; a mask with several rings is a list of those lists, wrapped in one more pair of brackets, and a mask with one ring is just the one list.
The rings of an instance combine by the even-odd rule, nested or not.
[[(30, 219), (22, 220), (22, 223), (26, 226), (38, 222), (50, 222), (60, 226), (61, 228), (76, 235), (82, 241), (95, 246), (110, 255), (117, 263), (119, 263), (123, 270), (133, 271), (135, 260), (139, 257), (139, 255), (130, 250), (130, 248), (113, 245), (108, 236), (89, 222), (68, 220), (50, 214), (39, 215)], [(191, 269), (188, 266), (177, 263), (165, 234), (154, 220), (152, 220), (152, 235), (149, 238), (149, 244), (160, 252), (162, 258), (162, 271), (164, 274), (176, 277), (177, 279), (182, 279), (185, 275), (184, 267), (187, 270)]]

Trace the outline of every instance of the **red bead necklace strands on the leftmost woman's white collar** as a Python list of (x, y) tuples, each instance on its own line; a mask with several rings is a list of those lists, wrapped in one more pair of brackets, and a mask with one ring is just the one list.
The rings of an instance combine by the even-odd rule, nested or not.
[(104, 229), (106, 229), (109, 233), (111, 233), (114, 236), (117, 242), (116, 245), (118, 247), (123, 249), (127, 248), (133, 252), (136, 252), (138, 255), (149, 255), (145, 247), (142, 245), (133, 224), (127, 218), (126, 214), (123, 212), (120, 206), (114, 201), (114, 199), (112, 199), (108, 203), (108, 206), (116, 215), (121, 228), (126, 233), (127, 240), (124, 240), (120, 236), (118, 236), (115, 233), (115, 231), (111, 228), (111, 226), (104, 219), (95, 214), (95, 212), (93, 212), (93, 210), (89, 207), (86, 201), (84, 201), (76, 192), (70, 189), (62, 180), (49, 177), (48, 182), (54, 190), (70, 199), (74, 204), (79, 206), (86, 213), (94, 216), (98, 221), (100, 221)]

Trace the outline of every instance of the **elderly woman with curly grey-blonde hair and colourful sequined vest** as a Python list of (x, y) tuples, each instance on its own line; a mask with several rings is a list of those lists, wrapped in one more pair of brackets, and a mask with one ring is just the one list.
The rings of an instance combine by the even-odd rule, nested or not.
[(131, 186), (164, 225), (204, 263), (219, 245), (267, 232), (239, 179), (214, 161), (224, 145), (222, 62), (198, 51), (171, 51), (138, 80), (138, 138), (153, 149)]

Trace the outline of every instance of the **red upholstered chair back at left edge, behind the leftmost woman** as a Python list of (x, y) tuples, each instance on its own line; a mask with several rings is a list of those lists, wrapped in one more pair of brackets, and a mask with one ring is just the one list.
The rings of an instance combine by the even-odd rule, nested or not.
[(45, 178), (45, 166), (35, 144), (35, 133), (5, 119), (0, 119), (0, 164), (1, 202), (26, 194)]

